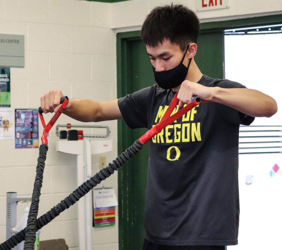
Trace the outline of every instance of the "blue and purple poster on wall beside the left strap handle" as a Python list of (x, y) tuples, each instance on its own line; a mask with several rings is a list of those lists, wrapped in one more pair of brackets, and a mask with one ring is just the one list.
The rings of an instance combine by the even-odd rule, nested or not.
[(15, 147), (38, 148), (38, 109), (16, 109), (15, 122)]

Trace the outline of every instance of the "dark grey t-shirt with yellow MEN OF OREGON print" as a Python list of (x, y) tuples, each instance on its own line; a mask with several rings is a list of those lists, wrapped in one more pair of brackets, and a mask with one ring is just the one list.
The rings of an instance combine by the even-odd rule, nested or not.
[[(198, 83), (245, 87), (205, 75)], [(154, 85), (120, 98), (118, 106), (130, 128), (152, 128), (174, 94)], [(208, 102), (149, 140), (144, 212), (148, 241), (171, 246), (238, 244), (239, 125), (253, 120), (233, 108)]]

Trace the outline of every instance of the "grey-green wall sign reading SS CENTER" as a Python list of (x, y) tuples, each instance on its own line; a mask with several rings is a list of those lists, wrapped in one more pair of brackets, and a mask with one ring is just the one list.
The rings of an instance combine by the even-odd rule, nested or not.
[(0, 34), (0, 66), (24, 67), (24, 35)]

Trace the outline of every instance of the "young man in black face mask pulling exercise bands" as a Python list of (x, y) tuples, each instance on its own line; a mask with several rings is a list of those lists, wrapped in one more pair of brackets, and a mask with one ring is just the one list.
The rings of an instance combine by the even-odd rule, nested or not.
[[(203, 75), (194, 61), (198, 34), (199, 20), (188, 8), (154, 8), (141, 37), (157, 84), (108, 102), (72, 99), (65, 110), (80, 121), (123, 118), (130, 128), (152, 128), (177, 91), (178, 108), (201, 97), (198, 107), (149, 141), (143, 250), (219, 250), (238, 243), (239, 125), (277, 111), (270, 96)], [(59, 90), (42, 96), (42, 110), (56, 111), (61, 96)]]

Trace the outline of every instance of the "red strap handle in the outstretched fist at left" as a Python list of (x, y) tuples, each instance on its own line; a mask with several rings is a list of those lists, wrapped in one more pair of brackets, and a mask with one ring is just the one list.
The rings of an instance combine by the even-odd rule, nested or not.
[(43, 135), (41, 137), (42, 144), (48, 145), (49, 131), (53, 127), (55, 122), (58, 120), (61, 113), (65, 110), (65, 107), (68, 105), (68, 103), (69, 103), (69, 98), (67, 96), (64, 96), (64, 97), (61, 98), (61, 100), (60, 100), (60, 104), (62, 104), (61, 107), (57, 110), (57, 112), (51, 118), (50, 122), (48, 122), (47, 125), (45, 125), (45, 121), (44, 121), (44, 118), (43, 118), (43, 115), (42, 115), (43, 111), (42, 111), (41, 107), (38, 108), (38, 114), (39, 114), (42, 126), (44, 128), (43, 129)]

